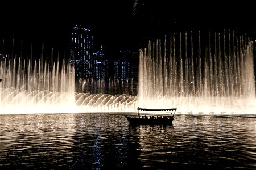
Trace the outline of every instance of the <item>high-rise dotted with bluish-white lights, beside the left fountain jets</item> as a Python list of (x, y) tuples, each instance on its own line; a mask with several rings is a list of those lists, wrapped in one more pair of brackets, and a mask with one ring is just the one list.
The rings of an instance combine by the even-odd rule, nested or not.
[(81, 92), (82, 83), (92, 78), (93, 36), (89, 28), (73, 27), (71, 56), (75, 67), (76, 91)]

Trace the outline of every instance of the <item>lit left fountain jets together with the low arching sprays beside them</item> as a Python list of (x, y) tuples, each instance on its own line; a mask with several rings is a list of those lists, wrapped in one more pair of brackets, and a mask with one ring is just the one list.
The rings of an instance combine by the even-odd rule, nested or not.
[[(65, 59), (21, 57), (0, 63), (0, 114), (134, 112), (137, 96), (75, 92), (75, 71)], [(21, 50), (22, 51), (22, 50)], [(22, 54), (22, 52), (21, 52)], [(53, 49), (52, 49), (53, 54)], [(97, 84), (96, 84), (97, 85)], [(86, 87), (85, 87), (86, 88)], [(88, 88), (94, 90), (94, 87)]]

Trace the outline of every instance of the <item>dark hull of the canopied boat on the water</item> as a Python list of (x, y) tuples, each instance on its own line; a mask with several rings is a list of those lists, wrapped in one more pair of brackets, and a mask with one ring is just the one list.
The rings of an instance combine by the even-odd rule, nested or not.
[(136, 117), (129, 117), (125, 116), (127, 120), (130, 122), (130, 124), (134, 125), (172, 125), (172, 121), (174, 120), (174, 117), (166, 117), (166, 118), (136, 118)]

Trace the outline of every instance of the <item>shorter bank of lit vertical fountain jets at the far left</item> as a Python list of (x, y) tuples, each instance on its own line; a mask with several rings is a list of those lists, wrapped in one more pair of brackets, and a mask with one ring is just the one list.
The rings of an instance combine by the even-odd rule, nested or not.
[[(52, 70), (51, 70), (52, 67)], [(1, 61), (0, 113), (66, 113), (75, 106), (74, 75), (65, 61)]]

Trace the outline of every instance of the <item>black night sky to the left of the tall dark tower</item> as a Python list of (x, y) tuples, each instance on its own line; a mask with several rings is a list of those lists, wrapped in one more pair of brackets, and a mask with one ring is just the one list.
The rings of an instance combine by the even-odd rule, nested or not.
[(1, 8), (0, 38), (5, 39), (5, 44), (14, 35), (14, 40), (33, 42), (33, 47), (44, 42), (45, 49), (48, 45), (63, 50), (73, 26), (81, 24), (92, 31), (95, 48), (100, 45), (110, 51), (129, 48), (133, 1), (15, 2)]

